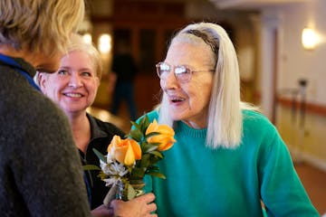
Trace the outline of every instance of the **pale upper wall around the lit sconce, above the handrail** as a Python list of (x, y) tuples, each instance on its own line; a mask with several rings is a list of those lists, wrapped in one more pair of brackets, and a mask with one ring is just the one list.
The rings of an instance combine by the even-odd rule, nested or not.
[[(283, 40), (278, 89), (297, 88), (297, 81), (305, 78), (309, 80), (307, 100), (326, 106), (326, 1), (283, 6), (280, 13)], [(314, 28), (321, 36), (321, 43), (313, 51), (306, 51), (302, 47), (302, 29), (307, 26)]]

